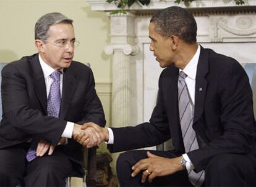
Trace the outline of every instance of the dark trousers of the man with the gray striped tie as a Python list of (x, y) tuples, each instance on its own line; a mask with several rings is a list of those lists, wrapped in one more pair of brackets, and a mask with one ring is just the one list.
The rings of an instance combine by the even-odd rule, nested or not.
[[(169, 151), (150, 151), (162, 157), (176, 157)], [(141, 183), (142, 172), (131, 177), (132, 165), (147, 158), (147, 151), (127, 151), (117, 159), (117, 177), (121, 186), (192, 186), (187, 171), (165, 177), (156, 177), (152, 183)], [(205, 168), (203, 186), (256, 186), (256, 169), (252, 158), (239, 154), (221, 154), (213, 157)]]

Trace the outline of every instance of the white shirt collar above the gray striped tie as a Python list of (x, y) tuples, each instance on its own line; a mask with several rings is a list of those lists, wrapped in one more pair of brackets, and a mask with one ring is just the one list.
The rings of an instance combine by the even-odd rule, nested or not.
[[(200, 49), (201, 47), (198, 45), (197, 52), (195, 52), (194, 57), (186, 65), (184, 70), (182, 70), (184, 71), (184, 73), (187, 74), (187, 76), (189, 76), (191, 79), (194, 79), (194, 80), (195, 80), (195, 76), (197, 75), (197, 65), (198, 65), (198, 60), (200, 55)], [(181, 71), (181, 69), (179, 71)]]

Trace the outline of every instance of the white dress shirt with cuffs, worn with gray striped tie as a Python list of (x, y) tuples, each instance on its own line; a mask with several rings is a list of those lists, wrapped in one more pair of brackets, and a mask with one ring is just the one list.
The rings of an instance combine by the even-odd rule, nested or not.
[[(189, 90), (189, 96), (191, 101), (190, 107), (193, 114), (194, 114), (194, 105), (195, 105), (195, 77), (197, 75), (197, 65), (198, 65), (199, 55), (200, 55), (200, 46), (197, 47), (197, 52), (195, 52), (194, 57), (190, 60), (190, 62), (187, 64), (184, 70), (181, 70), (181, 69), (179, 70), (179, 71), (184, 71), (184, 73), (187, 74), (187, 78), (185, 79), (185, 82), (187, 84), (187, 89)], [(114, 143), (113, 130), (108, 128), (108, 132), (109, 132), (109, 140), (107, 143), (113, 144)], [(194, 165), (190, 161), (189, 156), (187, 156), (187, 154), (182, 154), (182, 156), (187, 161), (186, 163), (187, 171), (194, 169)]]

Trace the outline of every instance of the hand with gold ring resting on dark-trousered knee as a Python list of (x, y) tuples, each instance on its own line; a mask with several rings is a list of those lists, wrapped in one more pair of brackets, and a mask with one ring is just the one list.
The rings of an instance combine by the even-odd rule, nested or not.
[(132, 177), (138, 175), (142, 170), (142, 183), (145, 183), (148, 177), (148, 181), (151, 183), (155, 177), (163, 177), (166, 175), (171, 175), (179, 170), (184, 170), (181, 166), (181, 157), (176, 158), (166, 158), (156, 156), (147, 151), (147, 159), (142, 159), (137, 162), (132, 170)]

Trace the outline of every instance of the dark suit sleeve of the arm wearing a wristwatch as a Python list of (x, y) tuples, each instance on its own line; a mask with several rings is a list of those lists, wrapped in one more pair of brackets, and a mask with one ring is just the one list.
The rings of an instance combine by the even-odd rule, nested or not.
[(202, 148), (187, 153), (198, 172), (205, 169), (211, 157), (217, 154), (250, 153), (255, 142), (252, 90), (247, 74), (237, 62), (221, 72), (216, 77), (221, 114), (216, 128), (222, 129), (223, 133)]

